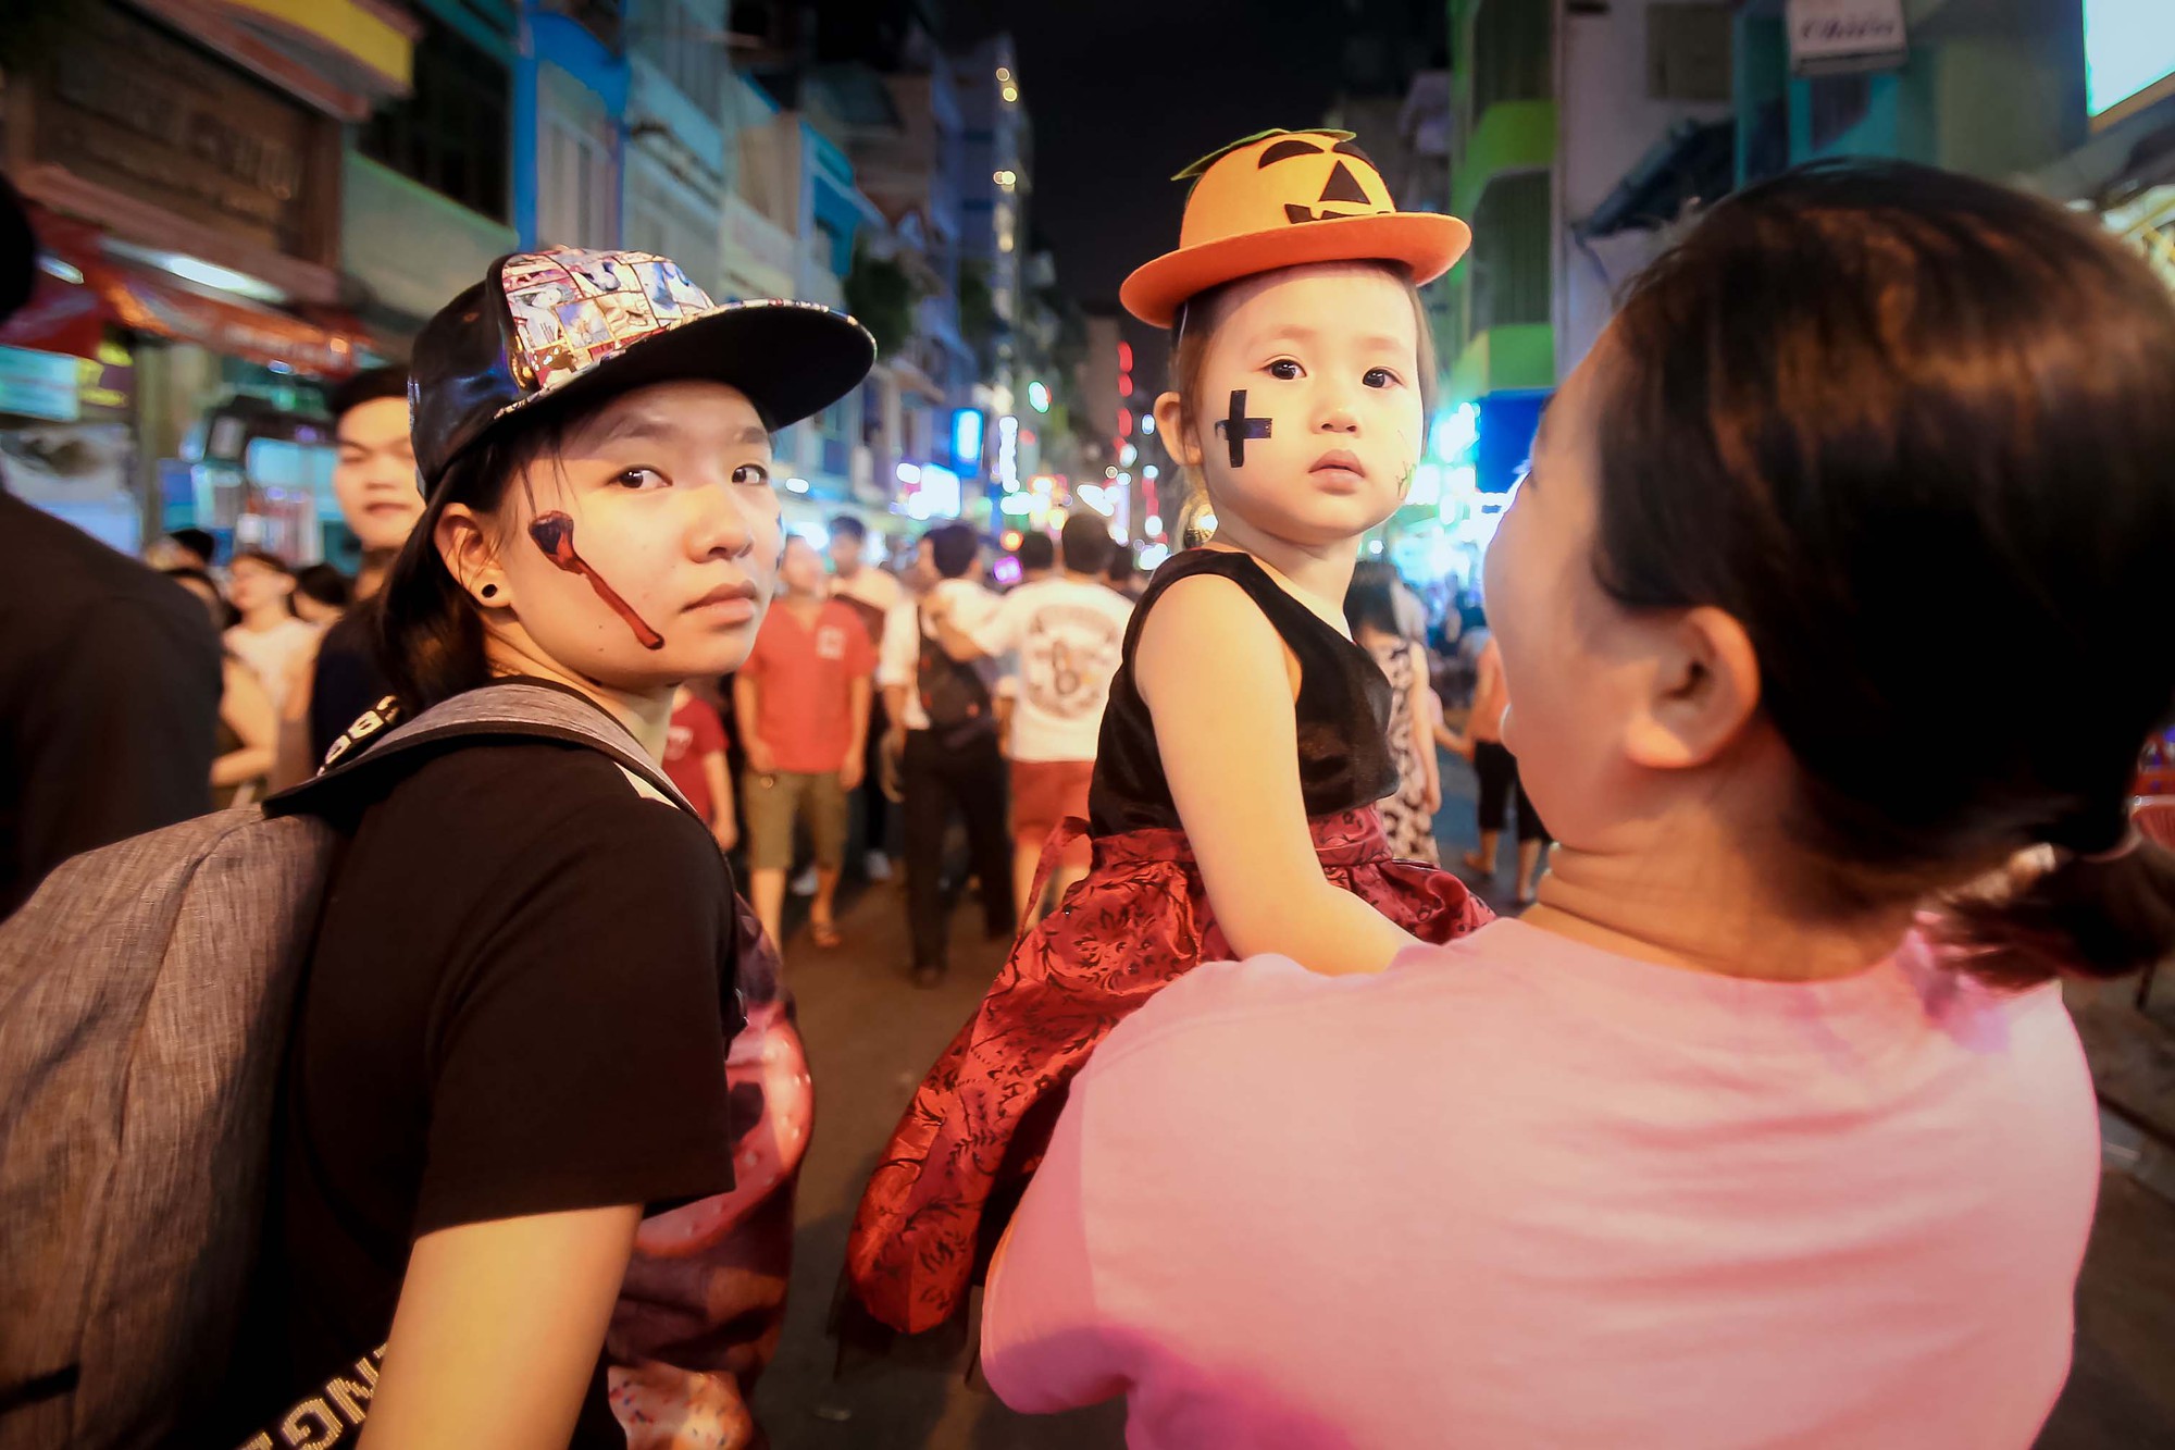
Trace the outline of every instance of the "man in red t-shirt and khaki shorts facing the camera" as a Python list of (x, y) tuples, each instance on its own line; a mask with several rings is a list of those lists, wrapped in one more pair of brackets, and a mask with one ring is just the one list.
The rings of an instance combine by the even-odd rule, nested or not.
[(822, 557), (805, 538), (785, 540), (779, 586), (748, 662), (733, 677), (748, 775), (748, 886), (755, 917), (783, 949), (779, 919), (794, 864), (794, 821), (816, 845), (809, 934), (837, 945), (831, 901), (846, 864), (846, 795), (861, 784), (870, 675), (877, 651), (853, 607), (826, 597)]

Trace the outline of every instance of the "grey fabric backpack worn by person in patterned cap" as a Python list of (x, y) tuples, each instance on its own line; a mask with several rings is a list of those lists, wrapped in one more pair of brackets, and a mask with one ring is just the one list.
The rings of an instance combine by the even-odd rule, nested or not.
[(313, 782), (61, 864), (0, 923), (0, 1450), (152, 1446), (220, 1385), (257, 1254), (272, 1099), (341, 832), (391, 764), (544, 736), (687, 799), (616, 721), (494, 684)]

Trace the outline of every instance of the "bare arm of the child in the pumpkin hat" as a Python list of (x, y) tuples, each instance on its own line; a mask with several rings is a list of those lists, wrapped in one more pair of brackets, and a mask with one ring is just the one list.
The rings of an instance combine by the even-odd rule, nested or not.
[(1133, 660), (1231, 949), (1325, 973), (1381, 971), (1416, 938), (1322, 875), (1298, 788), (1296, 668), (1246, 592), (1214, 575), (1164, 592)]

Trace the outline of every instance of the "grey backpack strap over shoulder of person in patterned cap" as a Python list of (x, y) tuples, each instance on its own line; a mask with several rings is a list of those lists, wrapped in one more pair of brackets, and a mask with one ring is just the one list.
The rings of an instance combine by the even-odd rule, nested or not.
[[(285, 816), (320, 808), (326, 799), (355, 786), (359, 775), (383, 769), (389, 760), (409, 751), (444, 745), (461, 738), (546, 738), (568, 745), (587, 745), (609, 755), (622, 771), (639, 777), (657, 795), (696, 816), (696, 808), (672, 784), (672, 777), (650, 760), (648, 751), (605, 714), (596, 701), (563, 686), (507, 679), (502, 684), (465, 690), (448, 701), (431, 705), (413, 721), (387, 729), (374, 745), (361, 751), (341, 751), (335, 745), (331, 764), (315, 779), (265, 801), (265, 814)], [(368, 738), (350, 729), (341, 742)]]

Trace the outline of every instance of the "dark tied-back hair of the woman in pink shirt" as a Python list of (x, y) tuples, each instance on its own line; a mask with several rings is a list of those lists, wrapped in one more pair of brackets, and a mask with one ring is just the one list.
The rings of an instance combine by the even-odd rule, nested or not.
[(2090, 222), (1905, 163), (1714, 207), (1603, 344), (1594, 570), (1714, 605), (1799, 766), (1829, 912), (1949, 901), (1971, 971), (2121, 973), (2175, 947), (2175, 860), (2127, 840), (2175, 708), (2175, 298)]

